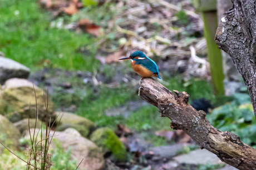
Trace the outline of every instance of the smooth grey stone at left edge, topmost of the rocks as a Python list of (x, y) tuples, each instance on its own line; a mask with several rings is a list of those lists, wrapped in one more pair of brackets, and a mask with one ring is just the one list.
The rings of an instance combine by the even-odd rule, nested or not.
[(11, 78), (27, 79), (29, 68), (8, 58), (0, 58), (0, 84)]

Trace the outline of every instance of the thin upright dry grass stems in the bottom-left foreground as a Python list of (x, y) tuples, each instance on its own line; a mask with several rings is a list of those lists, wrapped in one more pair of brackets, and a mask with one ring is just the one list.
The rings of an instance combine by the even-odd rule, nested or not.
[[(37, 169), (50, 170), (54, 166), (52, 158), (56, 160), (56, 157), (53, 157), (53, 154), (51, 154), (49, 152), (50, 145), (51, 145), (53, 136), (55, 134), (55, 131), (53, 132), (52, 136), (50, 136), (50, 133), (51, 133), (51, 130), (52, 130), (52, 127), (53, 127), (55, 121), (51, 125), (51, 123), (50, 123), (51, 122), (51, 117), (49, 117), (49, 119), (48, 119), (48, 91), (47, 91), (47, 99), (45, 99), (46, 125), (49, 125), (49, 126), (46, 126), (46, 130), (43, 130), (42, 129), (42, 124), (41, 124), (40, 130), (36, 131), (38, 110), (37, 110), (37, 98), (36, 98), (35, 87), (34, 87), (34, 92), (35, 92), (35, 99), (36, 99), (36, 122), (35, 122), (35, 128), (33, 129), (33, 131), (31, 131), (30, 125), (29, 125), (29, 117), (30, 117), (30, 106), (29, 106), (28, 131), (29, 131), (29, 136), (30, 136), (30, 144), (27, 147), (27, 154), (26, 154), (27, 161), (25, 161), (24, 158), (21, 158), (17, 154), (14, 154), (11, 150), (9, 150), (6, 146), (4, 146), (2, 142), (0, 142), (0, 143), (2, 144), (2, 146), (4, 148), (6, 148), (6, 150), (8, 150), (14, 156), (21, 159), (23, 162), (25, 162), (26, 165), (27, 165), (26, 166), (27, 170), (37, 170)], [(57, 127), (58, 127), (58, 123), (57, 123)], [(57, 129), (57, 127), (56, 127), (56, 129)], [(40, 138), (40, 140), (38, 140), (38, 138)], [(57, 151), (63, 153), (63, 149), (60, 150), (60, 146), (57, 147)], [(67, 152), (67, 154), (70, 155), (70, 151)], [(66, 155), (63, 154), (63, 156), (66, 156)], [(67, 158), (69, 159), (70, 157), (67, 157)], [(68, 159), (66, 159), (66, 161), (68, 161)], [(58, 159), (57, 161), (60, 161), (60, 160)], [(71, 162), (71, 164), (73, 164), (73, 163), (74, 162)], [(58, 166), (58, 163), (57, 163), (57, 166)], [(78, 166), (76, 167), (76, 169), (78, 168)]]

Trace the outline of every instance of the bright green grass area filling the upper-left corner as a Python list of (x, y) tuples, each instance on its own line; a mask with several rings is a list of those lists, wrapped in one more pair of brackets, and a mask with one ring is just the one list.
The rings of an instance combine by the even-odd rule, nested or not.
[(99, 61), (91, 53), (82, 55), (78, 50), (94, 39), (88, 34), (50, 27), (52, 14), (36, 2), (0, 2), (0, 51), (32, 70), (45, 66), (88, 71), (99, 68)]

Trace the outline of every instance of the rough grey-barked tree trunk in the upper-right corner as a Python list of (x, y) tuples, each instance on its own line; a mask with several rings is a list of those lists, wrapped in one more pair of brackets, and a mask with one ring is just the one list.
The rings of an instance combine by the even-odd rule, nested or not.
[(242, 75), (256, 116), (256, 2), (232, 0), (233, 7), (221, 18), (216, 44), (228, 53)]

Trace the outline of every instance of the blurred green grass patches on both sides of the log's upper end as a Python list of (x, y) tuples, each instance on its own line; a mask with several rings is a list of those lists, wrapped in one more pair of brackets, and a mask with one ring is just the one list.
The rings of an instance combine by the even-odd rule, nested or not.
[[(216, 100), (211, 85), (207, 81), (190, 80), (191, 84), (184, 87), (177, 78), (168, 80), (169, 89), (187, 91), (190, 99), (205, 97), (211, 101)], [(115, 128), (117, 123), (127, 125), (136, 131), (170, 130), (170, 120), (160, 117), (157, 107), (143, 106), (133, 112), (127, 119), (123, 116), (106, 116), (105, 110), (120, 107), (129, 101), (139, 101), (136, 87), (123, 85), (120, 89), (108, 87), (87, 87), (86, 96), (78, 107), (77, 114), (96, 122), (99, 126)]]

